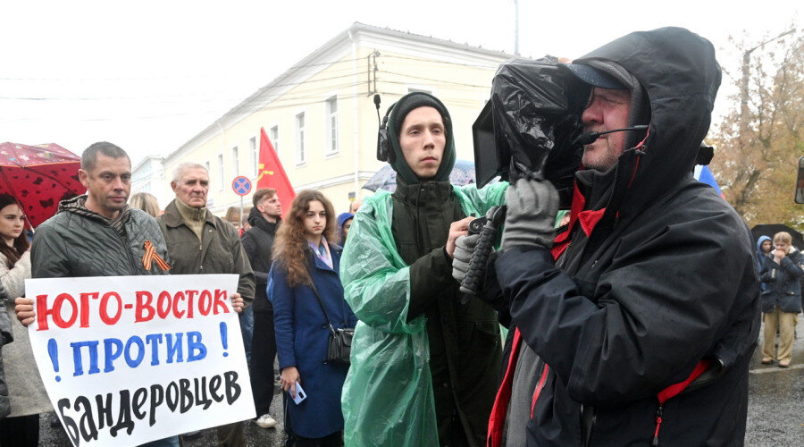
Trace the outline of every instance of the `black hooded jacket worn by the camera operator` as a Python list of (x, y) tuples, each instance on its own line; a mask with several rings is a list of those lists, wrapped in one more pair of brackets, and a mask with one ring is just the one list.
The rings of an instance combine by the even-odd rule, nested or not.
[(536, 389), (514, 390), (532, 395), (528, 445), (741, 445), (756, 261), (740, 216), (691, 177), (720, 84), (714, 48), (665, 28), (574, 63), (630, 73), (649, 98), (650, 127), (614, 171), (577, 174), (605, 211), (588, 238), (581, 225), (569, 230), (560, 269), (545, 249), (516, 247), (496, 261), (514, 324), (540, 357)]

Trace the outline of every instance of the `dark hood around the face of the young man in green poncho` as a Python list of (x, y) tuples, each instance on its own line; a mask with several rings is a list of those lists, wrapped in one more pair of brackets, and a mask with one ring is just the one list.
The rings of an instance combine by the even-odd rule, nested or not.
[(441, 164), (439, 170), (433, 177), (433, 181), (448, 181), (449, 173), (452, 172), (455, 166), (455, 143), (452, 138), (452, 120), (449, 118), (447, 107), (437, 98), (429, 93), (416, 91), (408, 93), (406, 96), (401, 97), (389, 115), (388, 133), (389, 143), (394, 150), (396, 159), (391, 163), (391, 167), (397, 172), (397, 175), (402, 177), (407, 184), (419, 183), (421, 179), (416, 176), (410, 166), (405, 161), (405, 155), (402, 153), (402, 148), (399, 146), (399, 131), (402, 130), (402, 123), (405, 122), (407, 114), (419, 107), (432, 107), (439, 111), (441, 119), (444, 122), (444, 129), (447, 132), (447, 144), (444, 147), (444, 155), (441, 156)]

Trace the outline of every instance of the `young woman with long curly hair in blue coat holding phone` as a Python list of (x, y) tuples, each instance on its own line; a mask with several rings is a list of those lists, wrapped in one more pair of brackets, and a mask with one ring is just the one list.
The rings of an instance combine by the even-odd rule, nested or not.
[(304, 401), (288, 400), (286, 406), (297, 446), (342, 445), (340, 392), (348, 366), (324, 363), (330, 338), (327, 316), (335, 328), (355, 327), (357, 318), (343, 299), (341, 248), (328, 242), (335, 238), (331, 202), (318, 191), (305, 190), (293, 200), (273, 245), (268, 296), (281, 384), (292, 397), (297, 383), (306, 394)]

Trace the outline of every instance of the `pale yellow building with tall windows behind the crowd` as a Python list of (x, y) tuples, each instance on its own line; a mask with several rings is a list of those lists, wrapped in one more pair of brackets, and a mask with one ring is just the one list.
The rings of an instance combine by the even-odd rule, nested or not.
[[(499, 63), (510, 57), (355, 23), (164, 157), (163, 173), (170, 176), (186, 161), (204, 164), (208, 206), (224, 215), (239, 207), (231, 181), (238, 175), (256, 181), (264, 128), (294, 189), (322, 190), (337, 212), (346, 211), (350, 198), (372, 194), (361, 187), (383, 165), (376, 159), (374, 95), (381, 97), (381, 115), (411, 91), (439, 97), (453, 119), (458, 158), (472, 160), (472, 124)], [(169, 179), (162, 188), (162, 197), (172, 198)]]

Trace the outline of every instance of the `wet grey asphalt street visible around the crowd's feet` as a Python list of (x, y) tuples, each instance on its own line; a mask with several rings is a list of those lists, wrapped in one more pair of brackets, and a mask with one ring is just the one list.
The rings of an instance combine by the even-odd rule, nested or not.
[[(798, 338), (793, 343), (793, 361), (788, 368), (777, 367), (775, 364), (761, 365), (759, 347), (754, 352), (749, 375), (749, 414), (745, 445), (804, 446), (804, 317), (799, 319), (797, 333)], [(271, 415), (279, 424), (275, 428), (266, 429), (248, 421), (248, 446), (281, 447), (285, 438), (281, 408), (281, 393), (279, 387), (275, 387)], [(51, 428), (46, 417), (40, 419), (40, 430), (39, 445), (71, 445), (62, 429)], [(214, 428), (202, 430), (198, 437), (185, 440), (184, 445), (214, 446)]]

